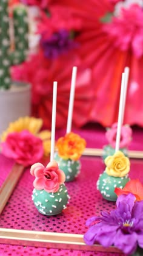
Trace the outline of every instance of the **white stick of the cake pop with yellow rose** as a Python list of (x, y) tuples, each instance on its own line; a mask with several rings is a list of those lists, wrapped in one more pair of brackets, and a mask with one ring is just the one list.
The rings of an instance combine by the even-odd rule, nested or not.
[(125, 73), (122, 73), (115, 152), (117, 152), (119, 150), (119, 144), (120, 144), (120, 138), (121, 138), (122, 115), (123, 115), (122, 112), (123, 112), (123, 102), (124, 102), (124, 88), (125, 88)]

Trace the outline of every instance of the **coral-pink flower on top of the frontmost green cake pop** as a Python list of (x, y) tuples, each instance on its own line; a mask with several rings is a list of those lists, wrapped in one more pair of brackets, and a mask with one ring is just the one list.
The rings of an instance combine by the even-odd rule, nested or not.
[(46, 167), (42, 163), (35, 163), (32, 165), (30, 173), (36, 177), (33, 182), (36, 190), (55, 193), (59, 190), (59, 185), (65, 182), (65, 174), (59, 169), (56, 161), (48, 163)]

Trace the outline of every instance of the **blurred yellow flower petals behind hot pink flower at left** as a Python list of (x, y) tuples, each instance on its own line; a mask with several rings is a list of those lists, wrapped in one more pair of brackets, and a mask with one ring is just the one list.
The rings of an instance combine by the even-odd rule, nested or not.
[(48, 130), (43, 130), (39, 132), (42, 127), (42, 119), (25, 116), (24, 118), (19, 118), (13, 123), (10, 123), (7, 130), (5, 130), (1, 135), (1, 141), (5, 141), (7, 135), (12, 132), (22, 132), (22, 130), (28, 130), (33, 135), (41, 138), (44, 148), (44, 156), (47, 157), (50, 154), (50, 137), (51, 133)]

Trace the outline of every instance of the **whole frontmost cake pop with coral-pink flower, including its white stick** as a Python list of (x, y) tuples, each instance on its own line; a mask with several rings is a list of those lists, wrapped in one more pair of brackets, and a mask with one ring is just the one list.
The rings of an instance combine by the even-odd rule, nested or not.
[(43, 215), (61, 213), (66, 208), (69, 198), (67, 188), (64, 185), (65, 174), (53, 159), (55, 150), (56, 94), (57, 82), (54, 82), (50, 163), (46, 167), (41, 163), (35, 163), (30, 169), (30, 173), (36, 178), (33, 182), (32, 199), (38, 212)]

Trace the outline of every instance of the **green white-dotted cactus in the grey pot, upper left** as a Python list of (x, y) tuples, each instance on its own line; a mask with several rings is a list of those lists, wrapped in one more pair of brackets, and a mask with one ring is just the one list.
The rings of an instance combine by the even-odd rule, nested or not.
[(10, 51), (8, 0), (0, 1), (0, 88), (10, 88), (10, 66), (25, 60), (28, 50), (28, 19), (24, 5), (13, 10), (15, 50)]

